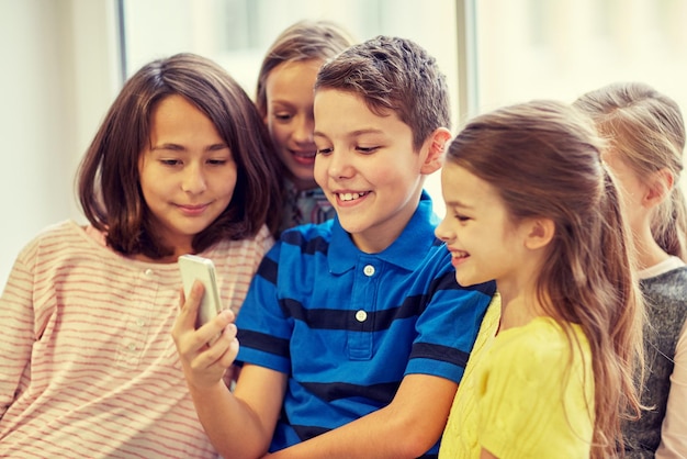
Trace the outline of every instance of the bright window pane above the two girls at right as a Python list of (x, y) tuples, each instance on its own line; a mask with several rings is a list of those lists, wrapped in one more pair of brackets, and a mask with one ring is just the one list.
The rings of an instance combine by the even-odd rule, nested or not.
[[(684, 0), (472, 0), (473, 111), (639, 80), (687, 109)], [(682, 178), (687, 190), (687, 179)]]

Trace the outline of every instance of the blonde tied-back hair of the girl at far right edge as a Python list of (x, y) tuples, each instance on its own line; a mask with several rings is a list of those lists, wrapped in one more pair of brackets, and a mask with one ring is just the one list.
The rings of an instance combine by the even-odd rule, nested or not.
[(669, 255), (687, 261), (687, 202), (679, 186), (685, 122), (677, 102), (642, 82), (618, 82), (587, 92), (574, 107), (589, 114), (609, 148), (640, 179), (666, 169), (673, 189), (652, 214), (651, 233)]

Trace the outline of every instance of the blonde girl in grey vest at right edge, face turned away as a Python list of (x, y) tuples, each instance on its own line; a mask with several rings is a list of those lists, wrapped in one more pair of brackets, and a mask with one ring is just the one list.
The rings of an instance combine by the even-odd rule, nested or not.
[(626, 457), (687, 457), (683, 115), (673, 99), (640, 82), (599, 88), (574, 105), (594, 119), (608, 141), (604, 160), (619, 182), (649, 316), (642, 392), (647, 410), (639, 421), (623, 425)]

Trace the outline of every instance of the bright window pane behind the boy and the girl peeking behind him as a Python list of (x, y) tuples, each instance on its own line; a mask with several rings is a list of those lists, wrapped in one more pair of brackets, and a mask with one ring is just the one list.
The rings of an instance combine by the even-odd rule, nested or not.
[[(164, 13), (160, 13), (164, 12)], [(432, 54), (450, 86), (458, 125), (457, 8), (452, 0), (148, 0), (124, 1), (125, 66), (131, 76), (148, 60), (188, 51), (222, 64), (255, 96), (264, 52), (301, 19), (333, 20), (358, 40), (386, 34), (416, 41)], [(443, 213), (439, 173), (427, 180)]]

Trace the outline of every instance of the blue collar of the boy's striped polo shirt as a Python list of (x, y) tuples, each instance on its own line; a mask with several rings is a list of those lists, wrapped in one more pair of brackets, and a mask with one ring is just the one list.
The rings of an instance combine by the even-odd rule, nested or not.
[[(416, 270), (425, 262), (427, 253), (435, 243), (435, 227), (438, 223), (439, 220), (432, 212), (431, 198), (423, 190), (420, 202), (398, 238), (374, 256), (408, 271)], [(356, 247), (337, 215), (331, 225), (331, 242), (327, 255), (330, 271), (342, 273), (353, 269), (361, 255), (370, 254)]]

